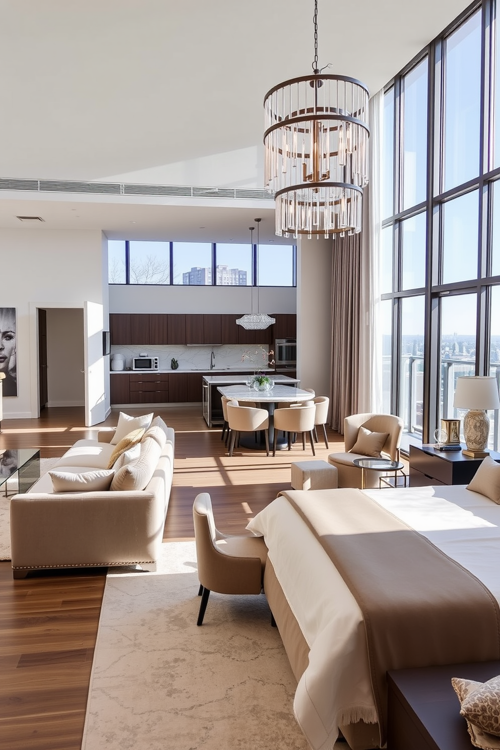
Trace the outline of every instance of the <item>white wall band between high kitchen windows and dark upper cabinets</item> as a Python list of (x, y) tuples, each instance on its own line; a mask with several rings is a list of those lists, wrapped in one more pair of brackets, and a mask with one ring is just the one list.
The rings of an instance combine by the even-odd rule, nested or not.
[(295, 287), (184, 287), (112, 284), (112, 313), (295, 313)]

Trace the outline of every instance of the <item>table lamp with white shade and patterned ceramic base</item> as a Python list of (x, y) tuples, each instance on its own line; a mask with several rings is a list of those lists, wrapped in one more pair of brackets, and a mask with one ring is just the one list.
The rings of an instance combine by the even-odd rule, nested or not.
[(456, 409), (469, 409), (463, 420), (463, 437), (467, 448), (466, 456), (482, 458), (487, 456), (490, 419), (488, 409), (500, 409), (499, 386), (496, 377), (477, 375), (457, 378), (457, 388), (453, 405)]

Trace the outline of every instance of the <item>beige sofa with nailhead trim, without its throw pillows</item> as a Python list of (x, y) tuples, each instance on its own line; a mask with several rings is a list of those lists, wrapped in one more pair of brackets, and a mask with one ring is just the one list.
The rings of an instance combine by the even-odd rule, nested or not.
[[(158, 419), (158, 418), (157, 418)], [(161, 422), (161, 420), (160, 420)], [(55, 493), (47, 472), (25, 494), (10, 501), (10, 544), (13, 577), (37, 568), (81, 568), (140, 565), (155, 570), (169, 503), (174, 463), (174, 431), (164, 423), (165, 439), (151, 437), (139, 444), (142, 489)], [(79, 474), (106, 469), (116, 448), (114, 431), (100, 431), (97, 440), (78, 440), (51, 471)], [(146, 455), (145, 443), (152, 446)], [(147, 460), (146, 460), (147, 459)], [(148, 466), (148, 460), (154, 465)], [(137, 460), (135, 461), (137, 463)], [(132, 467), (124, 484), (137, 478)], [(145, 472), (144, 472), (145, 467)], [(123, 473), (120, 476), (124, 476)], [(115, 473), (118, 478), (118, 472)]]

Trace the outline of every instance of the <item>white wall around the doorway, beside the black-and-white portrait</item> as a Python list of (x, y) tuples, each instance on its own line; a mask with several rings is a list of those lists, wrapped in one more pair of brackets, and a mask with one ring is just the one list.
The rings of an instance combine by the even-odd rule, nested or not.
[(4, 418), (38, 414), (37, 308), (107, 305), (102, 255), (100, 230), (0, 229), (0, 303), (17, 311), (19, 394), (4, 398)]

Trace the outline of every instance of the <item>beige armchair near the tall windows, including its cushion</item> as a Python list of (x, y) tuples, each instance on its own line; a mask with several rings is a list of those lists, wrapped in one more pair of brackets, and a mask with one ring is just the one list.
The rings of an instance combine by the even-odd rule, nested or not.
[[(328, 463), (337, 467), (339, 487), (361, 489), (361, 469), (355, 466), (355, 458), (390, 458), (400, 460), (403, 419), (393, 414), (352, 414), (344, 419), (344, 452), (331, 453)], [(385, 436), (385, 439), (384, 439)], [(378, 445), (377, 445), (378, 443)], [(379, 486), (376, 472), (366, 473), (366, 487)]]

